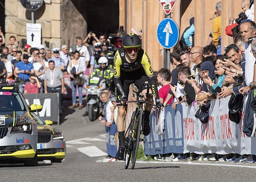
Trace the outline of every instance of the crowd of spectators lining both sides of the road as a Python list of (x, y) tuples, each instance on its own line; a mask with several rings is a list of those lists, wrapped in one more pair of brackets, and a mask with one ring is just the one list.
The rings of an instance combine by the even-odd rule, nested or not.
[[(176, 109), (177, 104), (185, 103), (187, 106), (196, 105), (198, 112), (196, 117), (207, 123), (209, 119), (210, 100), (221, 100), (231, 96), (236, 99), (236, 104), (229, 105), (235, 112), (229, 113), (229, 118), (235, 123), (240, 122), (240, 112), (244, 98), (247, 102), (256, 102), (254, 89), (256, 88), (256, 24), (254, 22), (254, 3), (250, 0), (242, 0), (241, 13), (237, 19), (230, 19), (226, 27), (221, 27), (221, 2), (216, 4), (216, 18), (213, 20), (212, 31), (209, 33), (207, 45), (197, 46), (194, 43), (195, 25), (194, 18), (190, 19), (181, 36), (179, 45), (172, 52), (172, 64), (176, 68), (172, 71), (162, 68), (155, 72), (158, 82), (160, 100), (164, 105), (172, 105)], [(225, 28), (226, 34), (233, 37), (233, 43), (224, 48), (221, 54), (221, 28)], [(110, 44), (105, 34), (89, 32), (85, 39), (77, 37), (75, 44), (68, 47), (62, 45), (52, 50), (40, 45), (32, 48), (25, 45), (23, 50), (18, 50), (19, 41), (11, 36), (10, 44), (5, 45), (4, 34), (0, 29), (0, 78), (12, 81), (24, 79), (25, 84), (20, 86), (20, 91), (29, 93), (59, 93), (60, 116), (62, 113), (61, 94), (65, 91), (64, 75), (69, 75), (72, 86), (72, 106), (76, 107), (76, 89), (79, 94), (78, 109), (82, 109), (82, 86), (84, 73), (89, 70), (88, 83), (91, 77), (106, 79), (107, 89), (100, 95), (102, 101), (102, 116), (99, 117), (102, 124), (109, 127), (114, 123), (117, 115), (116, 100), (113, 96), (113, 54), (116, 47)], [(91, 80), (91, 84), (94, 84)], [(248, 110), (255, 106), (246, 105)], [(250, 108), (251, 107), (251, 108)], [(153, 108), (154, 109), (154, 108)], [(245, 122), (253, 122), (255, 114), (248, 115)], [(83, 116), (88, 115), (88, 110)], [(203, 117), (202, 117), (203, 115)], [(249, 124), (248, 124), (249, 125)], [(251, 128), (245, 128), (247, 136), (253, 136), (255, 124)], [(183, 154), (169, 154), (167, 158), (174, 156), (178, 161), (185, 158)], [(194, 156), (193, 156), (194, 157)], [(202, 156), (195, 156), (202, 158)], [(238, 162), (255, 162), (256, 156), (242, 155), (215, 155), (204, 156), (203, 160), (235, 160)]]

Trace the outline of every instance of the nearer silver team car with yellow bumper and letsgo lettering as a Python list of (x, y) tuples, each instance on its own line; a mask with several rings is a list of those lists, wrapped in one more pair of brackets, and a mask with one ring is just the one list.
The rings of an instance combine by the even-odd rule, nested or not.
[(37, 166), (37, 122), (32, 112), (42, 106), (26, 104), (19, 84), (0, 83), (0, 163)]

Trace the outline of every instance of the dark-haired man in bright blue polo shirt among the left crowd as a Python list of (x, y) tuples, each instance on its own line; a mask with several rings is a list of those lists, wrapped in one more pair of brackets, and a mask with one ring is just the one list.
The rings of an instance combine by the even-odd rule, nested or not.
[[(18, 75), (18, 78), (24, 79), (25, 84), (29, 82), (30, 74), (34, 73), (33, 64), (28, 62), (28, 55), (23, 55), (23, 60), (18, 62), (14, 72)], [(23, 86), (20, 86), (20, 91), (23, 93)]]

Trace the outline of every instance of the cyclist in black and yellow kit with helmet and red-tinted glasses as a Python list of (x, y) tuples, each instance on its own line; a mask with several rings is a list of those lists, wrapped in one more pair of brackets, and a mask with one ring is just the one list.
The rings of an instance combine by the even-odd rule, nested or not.
[[(154, 79), (151, 62), (147, 53), (140, 48), (141, 41), (139, 36), (130, 33), (124, 36), (122, 41), (123, 48), (119, 49), (114, 57), (114, 83), (116, 86), (116, 103), (118, 106), (117, 115), (117, 132), (119, 139), (119, 148), (116, 153), (118, 160), (124, 158), (124, 130), (125, 130), (125, 116), (127, 112), (127, 96), (129, 94), (130, 84), (135, 84), (140, 88), (142, 83), (148, 82), (153, 91), (156, 105), (159, 109), (163, 108), (158, 96), (156, 81)], [(142, 94), (146, 99), (146, 84), (142, 88)], [(150, 91), (151, 93), (151, 91)], [(153, 96), (149, 95), (149, 103), (153, 103)], [(151, 105), (145, 105), (144, 111), (144, 127), (143, 134), (145, 136), (150, 133), (149, 115)]]

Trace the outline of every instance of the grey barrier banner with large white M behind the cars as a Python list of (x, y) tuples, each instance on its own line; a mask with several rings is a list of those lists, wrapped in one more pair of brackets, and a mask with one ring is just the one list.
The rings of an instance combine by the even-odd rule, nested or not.
[(58, 93), (40, 93), (37, 94), (23, 94), (28, 105), (38, 104), (42, 105), (43, 109), (39, 112), (39, 116), (43, 120), (51, 120), (53, 122), (59, 121), (59, 94)]

